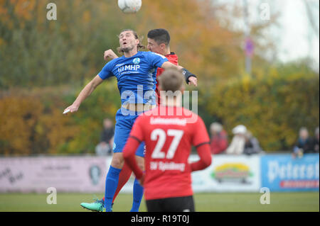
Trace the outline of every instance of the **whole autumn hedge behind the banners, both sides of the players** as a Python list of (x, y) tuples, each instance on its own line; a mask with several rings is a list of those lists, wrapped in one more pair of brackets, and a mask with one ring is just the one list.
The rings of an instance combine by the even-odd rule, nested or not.
[[(117, 80), (110, 79), (97, 87), (77, 113), (63, 115), (85, 84), (77, 90), (56, 86), (0, 95), (0, 154), (94, 153), (102, 120), (114, 120), (120, 96)], [(233, 127), (243, 124), (266, 151), (290, 150), (300, 127), (306, 126), (313, 135), (319, 126), (319, 74), (304, 64), (215, 81), (210, 89), (199, 83), (197, 89), (198, 113), (207, 128), (213, 120), (222, 121), (229, 140)]]

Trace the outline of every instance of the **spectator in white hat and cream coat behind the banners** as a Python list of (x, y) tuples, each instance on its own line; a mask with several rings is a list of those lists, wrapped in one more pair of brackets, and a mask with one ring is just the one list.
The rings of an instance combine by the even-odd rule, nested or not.
[(229, 147), (225, 150), (226, 154), (243, 154), (245, 149), (245, 133), (247, 128), (245, 125), (237, 125), (233, 128), (233, 140)]

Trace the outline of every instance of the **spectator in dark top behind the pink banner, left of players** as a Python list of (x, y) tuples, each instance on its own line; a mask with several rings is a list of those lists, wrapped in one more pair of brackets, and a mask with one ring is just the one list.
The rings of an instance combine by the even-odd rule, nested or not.
[(98, 156), (112, 154), (113, 136), (114, 126), (112, 120), (105, 118), (105, 120), (103, 120), (103, 130), (100, 135), (100, 143), (95, 147), (95, 153)]

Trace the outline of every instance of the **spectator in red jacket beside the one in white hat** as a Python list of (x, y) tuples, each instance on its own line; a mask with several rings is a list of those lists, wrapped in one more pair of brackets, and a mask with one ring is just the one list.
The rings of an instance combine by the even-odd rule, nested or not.
[(212, 123), (210, 125), (210, 133), (211, 154), (221, 154), (228, 147), (227, 132), (223, 130), (223, 126), (220, 123)]

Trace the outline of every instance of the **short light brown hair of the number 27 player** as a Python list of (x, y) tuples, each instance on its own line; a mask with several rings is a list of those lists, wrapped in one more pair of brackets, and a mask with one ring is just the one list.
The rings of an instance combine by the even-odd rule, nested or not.
[(177, 69), (166, 69), (158, 77), (159, 85), (163, 91), (179, 91), (183, 86), (184, 77)]

